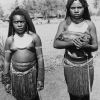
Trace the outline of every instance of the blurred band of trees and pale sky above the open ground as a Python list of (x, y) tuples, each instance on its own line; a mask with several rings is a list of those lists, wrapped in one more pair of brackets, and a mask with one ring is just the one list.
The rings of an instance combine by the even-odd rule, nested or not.
[[(87, 0), (91, 16), (100, 16), (100, 0)], [(0, 19), (7, 21), (14, 8), (25, 8), (32, 19), (64, 18), (67, 0), (0, 0)]]

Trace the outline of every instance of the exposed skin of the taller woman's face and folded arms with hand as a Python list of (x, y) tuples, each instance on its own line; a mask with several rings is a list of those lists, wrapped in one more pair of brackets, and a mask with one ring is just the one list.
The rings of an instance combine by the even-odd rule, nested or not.
[[(74, 1), (70, 7), (71, 20), (73, 22), (76, 21), (77, 23), (80, 23), (83, 13), (84, 13), (84, 8), (82, 4), (79, 1)], [(98, 42), (97, 42), (97, 33), (95, 25), (92, 21), (87, 21), (87, 24), (89, 26), (88, 28), (89, 34), (91, 35), (91, 44), (80, 41), (81, 37), (78, 37), (74, 40), (73, 39), (66, 39), (65, 41), (59, 40), (58, 37), (63, 32), (67, 33), (67, 35), (70, 34), (70, 32), (67, 30), (68, 25), (66, 23), (66, 20), (64, 20), (59, 24), (57, 34), (54, 39), (54, 48), (65, 49), (70, 46), (76, 46), (78, 48), (87, 49), (91, 52), (96, 51), (98, 49)]]

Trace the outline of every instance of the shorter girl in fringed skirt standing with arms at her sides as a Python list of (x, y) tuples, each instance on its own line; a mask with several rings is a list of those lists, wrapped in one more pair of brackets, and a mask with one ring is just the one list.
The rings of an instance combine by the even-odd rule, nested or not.
[(17, 100), (38, 100), (38, 90), (44, 88), (42, 43), (32, 20), (17, 7), (9, 17), (9, 33), (5, 44), (4, 83), (11, 82), (12, 95)]

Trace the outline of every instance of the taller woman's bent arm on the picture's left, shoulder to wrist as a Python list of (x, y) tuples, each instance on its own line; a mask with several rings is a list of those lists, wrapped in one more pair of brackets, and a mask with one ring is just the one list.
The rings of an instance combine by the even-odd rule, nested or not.
[(64, 49), (64, 48), (67, 48), (67, 47), (73, 45), (73, 41), (71, 39), (68, 39), (68, 41), (62, 41), (62, 40), (58, 39), (58, 37), (64, 31), (64, 26), (66, 25), (65, 23), (66, 22), (63, 21), (58, 26), (57, 34), (55, 36), (54, 43), (53, 43), (54, 48)]

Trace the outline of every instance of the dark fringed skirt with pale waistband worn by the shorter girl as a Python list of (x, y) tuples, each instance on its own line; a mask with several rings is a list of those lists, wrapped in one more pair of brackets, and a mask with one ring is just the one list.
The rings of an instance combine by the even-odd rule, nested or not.
[[(31, 66), (28, 71), (20, 72), (14, 66)], [(17, 100), (35, 100), (37, 95), (36, 88), (36, 64), (34, 63), (15, 63), (11, 64), (11, 88), (12, 95)]]

